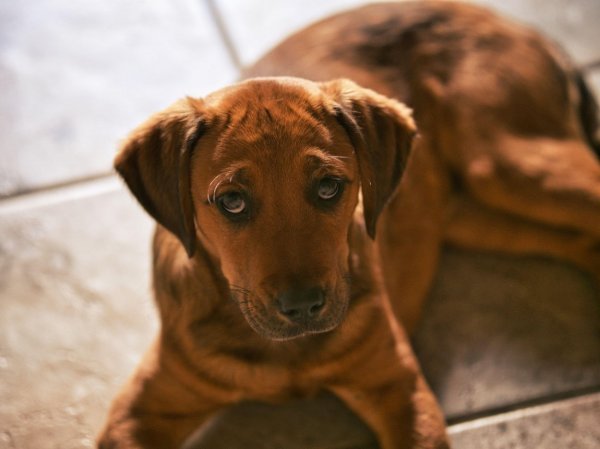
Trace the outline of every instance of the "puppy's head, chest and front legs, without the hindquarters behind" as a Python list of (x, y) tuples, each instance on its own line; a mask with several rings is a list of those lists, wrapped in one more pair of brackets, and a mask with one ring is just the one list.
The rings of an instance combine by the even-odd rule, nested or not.
[(100, 447), (179, 447), (227, 404), (321, 389), (384, 449), (447, 447), (367, 236), (414, 134), (396, 101), (295, 78), (183, 100), (135, 131), (116, 166), (160, 223), (162, 329)]

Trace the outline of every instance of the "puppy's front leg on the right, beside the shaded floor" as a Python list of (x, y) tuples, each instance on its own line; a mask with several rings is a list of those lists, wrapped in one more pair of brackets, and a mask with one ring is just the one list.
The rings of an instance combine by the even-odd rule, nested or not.
[(330, 390), (371, 427), (381, 449), (449, 448), (444, 417), (404, 331), (382, 317), (367, 335), (356, 348), (362, 356)]

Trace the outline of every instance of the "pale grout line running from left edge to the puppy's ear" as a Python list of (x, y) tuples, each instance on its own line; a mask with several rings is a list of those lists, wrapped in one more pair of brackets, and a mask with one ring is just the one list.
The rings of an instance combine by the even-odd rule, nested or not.
[(94, 176), (52, 187), (0, 199), (0, 215), (23, 212), (32, 208), (78, 200), (119, 190), (121, 182), (115, 175)]

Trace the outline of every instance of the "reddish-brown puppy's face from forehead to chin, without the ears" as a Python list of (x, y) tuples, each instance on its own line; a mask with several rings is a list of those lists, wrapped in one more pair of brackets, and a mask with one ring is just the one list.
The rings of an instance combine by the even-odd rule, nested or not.
[(197, 236), (219, 260), (248, 323), (271, 339), (336, 327), (349, 300), (348, 232), (359, 171), (323, 94), (248, 83), (194, 151)]

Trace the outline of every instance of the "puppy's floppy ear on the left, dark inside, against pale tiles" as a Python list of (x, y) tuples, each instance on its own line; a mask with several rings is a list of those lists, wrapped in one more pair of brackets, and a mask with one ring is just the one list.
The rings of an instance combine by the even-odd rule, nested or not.
[(131, 133), (114, 162), (140, 204), (189, 257), (196, 243), (190, 159), (205, 130), (201, 107), (201, 100), (186, 98), (155, 114)]

